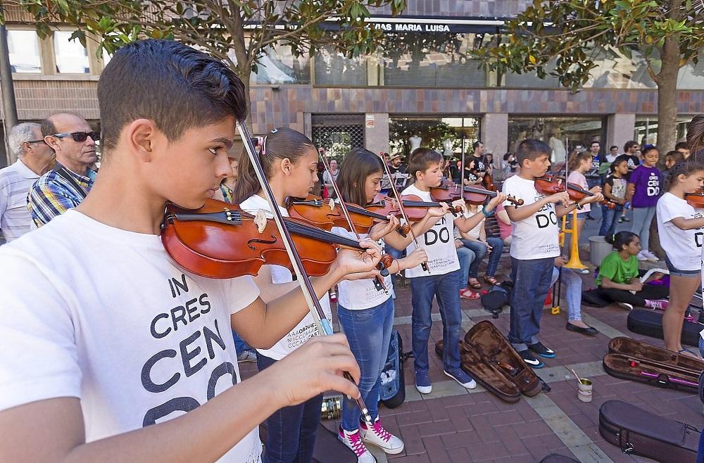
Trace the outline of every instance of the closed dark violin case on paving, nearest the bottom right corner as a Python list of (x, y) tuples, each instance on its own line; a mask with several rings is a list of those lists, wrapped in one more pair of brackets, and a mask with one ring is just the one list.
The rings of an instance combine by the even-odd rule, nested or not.
[(696, 461), (701, 436), (690, 424), (659, 417), (620, 400), (601, 405), (599, 433), (624, 453), (677, 463)]

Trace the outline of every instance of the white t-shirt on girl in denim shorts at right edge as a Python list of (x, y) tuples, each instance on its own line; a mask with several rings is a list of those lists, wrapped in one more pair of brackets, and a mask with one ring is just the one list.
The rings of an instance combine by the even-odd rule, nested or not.
[(704, 211), (695, 209), (687, 201), (667, 192), (660, 196), (656, 207), (660, 244), (667, 258), (679, 270), (698, 270), (702, 262), (703, 229), (682, 230), (672, 219), (704, 217)]

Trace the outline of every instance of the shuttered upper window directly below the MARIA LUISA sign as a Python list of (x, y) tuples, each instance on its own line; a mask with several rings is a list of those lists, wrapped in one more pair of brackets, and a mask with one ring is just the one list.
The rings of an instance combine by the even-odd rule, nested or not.
[(486, 87), (486, 72), (468, 52), (491, 34), (388, 34), (382, 54), (384, 85)]

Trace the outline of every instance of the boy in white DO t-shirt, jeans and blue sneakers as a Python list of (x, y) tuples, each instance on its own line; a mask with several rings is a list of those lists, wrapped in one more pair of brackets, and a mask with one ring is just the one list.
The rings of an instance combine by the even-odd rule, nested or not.
[[(412, 195), (421, 201), (432, 202), (431, 189), (442, 181), (442, 156), (430, 148), (417, 148), (410, 156), (408, 173), (414, 179), (412, 185), (403, 190), (403, 196)], [(455, 217), (448, 213), (442, 217), (429, 220), (429, 227), (424, 234), (417, 237), (418, 244), (427, 253), (429, 272), (418, 267), (406, 270), (410, 279), (413, 303), (413, 361), (415, 367), (415, 387), (420, 393), (432, 392), (432, 383), (428, 376), (428, 340), (432, 319), (430, 310), (433, 297), (438, 301), (443, 319), (443, 366), (444, 373), (467, 389), (477, 387), (477, 383), (460, 368), (460, 264), (455, 249), (453, 227), (460, 232), (468, 232), (482, 222), (484, 217), (494, 213), (496, 205), (506, 198), (498, 194), (492, 198), (481, 213), (467, 217), (467, 208), (463, 200), (453, 203), (460, 206), (464, 217)], [(415, 250), (415, 243), (410, 243), (406, 252), (410, 255)], [(466, 281), (465, 281), (466, 283)]]

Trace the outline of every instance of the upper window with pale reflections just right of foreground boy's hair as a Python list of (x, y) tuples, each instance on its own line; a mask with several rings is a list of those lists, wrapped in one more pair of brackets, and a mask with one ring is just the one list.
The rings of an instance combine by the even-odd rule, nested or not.
[(285, 45), (267, 47), (251, 73), (252, 84), (310, 84), (308, 56), (296, 56)]

